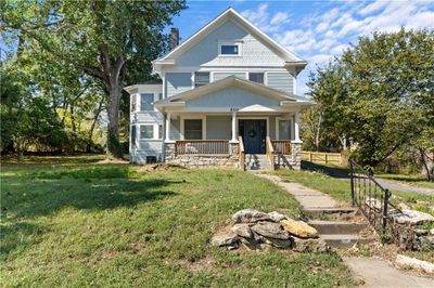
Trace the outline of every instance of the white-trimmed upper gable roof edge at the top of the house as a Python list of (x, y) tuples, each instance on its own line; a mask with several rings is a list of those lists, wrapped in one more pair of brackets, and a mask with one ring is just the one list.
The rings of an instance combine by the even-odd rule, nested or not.
[(227, 9), (220, 15), (218, 15), (215, 19), (209, 22), (207, 25), (202, 27), (199, 31), (193, 34), (190, 38), (188, 38), (180, 45), (171, 50), (165, 56), (157, 58), (153, 62), (154, 65), (161, 64), (175, 64), (175, 60), (181, 55), (183, 52), (189, 50), (195, 43), (197, 43), (201, 39), (206, 37), (210, 31), (226, 23), (228, 19), (233, 21), (239, 24), (241, 27), (245, 28), (250, 34), (252, 34), (255, 38), (261, 41), (265, 45), (273, 50), (280, 57), (282, 57), (285, 65), (294, 65), (297, 67), (306, 66), (307, 62), (296, 56), (294, 53), (290, 52), (288, 49), (279, 44), (277, 41), (271, 39), (268, 35), (259, 30), (255, 25), (250, 23), (243, 16), (241, 16), (235, 10), (232, 8)]

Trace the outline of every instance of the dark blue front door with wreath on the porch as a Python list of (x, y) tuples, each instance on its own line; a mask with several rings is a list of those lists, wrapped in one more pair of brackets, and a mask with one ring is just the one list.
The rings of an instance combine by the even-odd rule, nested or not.
[(239, 131), (243, 138), (246, 154), (265, 153), (265, 120), (240, 120)]

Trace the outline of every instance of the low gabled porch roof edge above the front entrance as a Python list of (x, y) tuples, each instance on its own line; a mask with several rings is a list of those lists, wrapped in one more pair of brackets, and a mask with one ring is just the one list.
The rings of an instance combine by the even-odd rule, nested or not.
[(315, 102), (312, 102), (308, 99), (297, 96), (294, 94), (290, 94), (290, 93), (283, 92), (281, 90), (272, 89), (272, 88), (266, 87), (266, 86), (257, 83), (257, 82), (241, 79), (235, 76), (229, 76), (221, 80), (210, 82), (206, 86), (202, 86), (202, 87), (199, 87), (199, 88), (195, 88), (192, 90), (188, 90), (186, 92), (176, 94), (171, 97), (157, 101), (154, 104), (156, 107), (182, 105), (182, 104), (184, 104), (184, 101), (187, 101), (187, 100), (207, 95), (209, 93), (213, 93), (213, 92), (216, 92), (221, 89), (229, 88), (229, 87), (239, 87), (239, 88), (245, 89), (247, 91), (251, 91), (253, 93), (257, 93), (259, 95), (280, 100), (281, 105), (289, 105), (289, 104), (312, 105), (312, 104), (315, 104)]

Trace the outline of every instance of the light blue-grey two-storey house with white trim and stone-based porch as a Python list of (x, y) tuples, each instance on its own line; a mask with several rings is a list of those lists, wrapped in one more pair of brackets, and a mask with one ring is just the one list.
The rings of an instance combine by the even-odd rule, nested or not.
[(296, 96), (306, 62), (233, 9), (153, 62), (161, 81), (125, 88), (131, 95), (131, 162), (189, 167), (299, 169)]

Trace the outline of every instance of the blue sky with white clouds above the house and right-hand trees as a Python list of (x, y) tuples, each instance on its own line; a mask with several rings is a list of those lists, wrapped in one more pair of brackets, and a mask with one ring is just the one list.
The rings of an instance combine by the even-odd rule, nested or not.
[(405, 28), (434, 29), (433, 1), (187, 1), (174, 18), (181, 42), (232, 6), (259, 29), (308, 62), (297, 94), (308, 91), (309, 71), (339, 56), (358, 36)]

